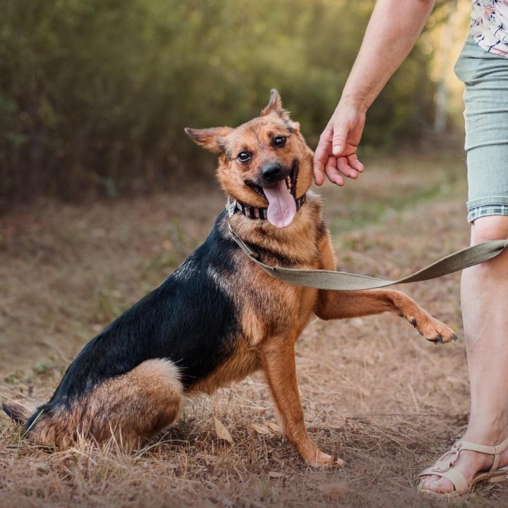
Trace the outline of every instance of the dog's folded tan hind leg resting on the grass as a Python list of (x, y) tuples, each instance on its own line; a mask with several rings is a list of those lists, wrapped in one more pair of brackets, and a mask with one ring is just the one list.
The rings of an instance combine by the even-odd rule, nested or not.
[(78, 437), (98, 444), (112, 438), (119, 448), (130, 451), (174, 422), (181, 392), (174, 363), (147, 360), (126, 374), (100, 383), (70, 406), (42, 406), (28, 422), (25, 433), (39, 444), (63, 448)]

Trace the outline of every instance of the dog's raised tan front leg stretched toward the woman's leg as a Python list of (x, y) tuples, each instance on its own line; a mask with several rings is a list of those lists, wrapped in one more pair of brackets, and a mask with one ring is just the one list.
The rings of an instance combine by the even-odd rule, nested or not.
[(455, 332), (432, 317), (401, 291), (368, 289), (366, 291), (320, 291), (315, 314), (324, 320), (344, 319), (385, 312), (397, 313), (408, 320), (425, 339), (432, 342), (456, 340)]

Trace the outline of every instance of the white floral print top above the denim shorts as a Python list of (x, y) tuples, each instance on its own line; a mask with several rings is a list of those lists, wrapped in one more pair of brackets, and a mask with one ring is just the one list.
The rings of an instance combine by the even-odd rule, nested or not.
[(488, 52), (508, 57), (508, 0), (473, 0), (471, 35)]

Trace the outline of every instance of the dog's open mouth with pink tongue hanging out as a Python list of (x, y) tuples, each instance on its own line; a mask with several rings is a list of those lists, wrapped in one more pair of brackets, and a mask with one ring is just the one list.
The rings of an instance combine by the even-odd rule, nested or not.
[(286, 178), (271, 185), (260, 186), (253, 181), (246, 184), (262, 195), (268, 202), (267, 219), (270, 224), (279, 228), (287, 227), (296, 215), (296, 183), (298, 181), (298, 159), (291, 164), (291, 171)]

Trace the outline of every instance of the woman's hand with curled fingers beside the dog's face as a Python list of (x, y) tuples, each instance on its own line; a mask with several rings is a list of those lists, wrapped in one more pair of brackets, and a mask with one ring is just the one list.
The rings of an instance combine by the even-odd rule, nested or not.
[(343, 186), (344, 176), (358, 178), (363, 171), (363, 164), (356, 157), (365, 126), (365, 108), (342, 100), (332, 114), (325, 131), (320, 136), (314, 152), (314, 180), (320, 186), (329, 181)]

